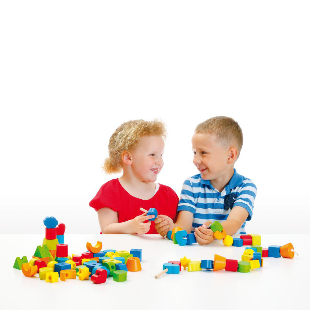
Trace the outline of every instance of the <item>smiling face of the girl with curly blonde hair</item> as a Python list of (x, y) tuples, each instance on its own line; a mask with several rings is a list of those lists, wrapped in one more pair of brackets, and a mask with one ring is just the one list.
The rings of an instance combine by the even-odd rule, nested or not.
[(137, 148), (131, 153), (131, 168), (135, 176), (143, 182), (155, 182), (164, 162), (165, 143), (160, 136), (145, 136), (141, 138)]

